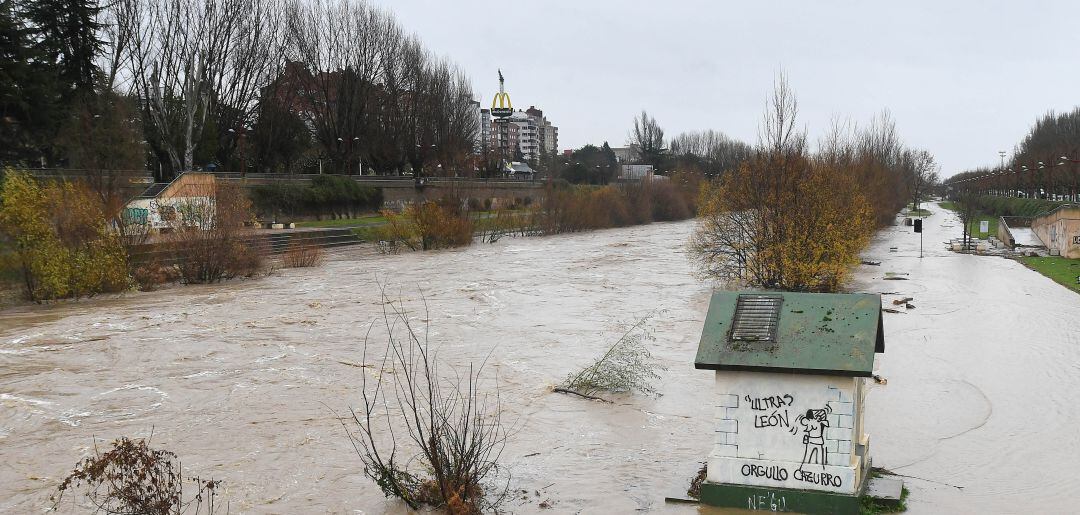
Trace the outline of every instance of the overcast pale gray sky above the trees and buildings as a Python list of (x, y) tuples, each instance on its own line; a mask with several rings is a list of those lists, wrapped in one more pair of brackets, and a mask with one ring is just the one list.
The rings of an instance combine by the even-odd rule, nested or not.
[(783, 70), (812, 140), (889, 109), (948, 176), (998, 163), (1048, 110), (1080, 104), (1080, 2), (374, 0), (473, 81), (507, 76), (559, 147), (620, 146), (647, 109), (667, 135), (747, 143)]

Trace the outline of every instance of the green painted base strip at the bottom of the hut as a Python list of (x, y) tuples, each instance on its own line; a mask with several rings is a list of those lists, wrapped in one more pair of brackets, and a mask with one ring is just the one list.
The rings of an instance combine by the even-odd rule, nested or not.
[(701, 502), (711, 506), (740, 507), (808, 515), (858, 515), (859, 497), (824, 491), (791, 490), (742, 485), (701, 484)]

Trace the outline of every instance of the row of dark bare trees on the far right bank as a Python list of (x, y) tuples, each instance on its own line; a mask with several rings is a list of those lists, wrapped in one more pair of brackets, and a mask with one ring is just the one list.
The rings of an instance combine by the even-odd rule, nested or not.
[[(1051, 201), (1080, 201), (1080, 107), (1053, 111), (1031, 125), (1000, 167), (980, 167), (954, 175), (954, 191)], [(959, 194), (959, 193), (958, 193)]]

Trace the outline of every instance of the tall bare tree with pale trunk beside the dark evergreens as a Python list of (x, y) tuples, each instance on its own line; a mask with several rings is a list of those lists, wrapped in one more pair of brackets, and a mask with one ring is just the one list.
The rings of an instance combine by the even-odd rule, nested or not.
[[(191, 170), (207, 121), (229, 155), (248, 126), (259, 90), (282, 67), (283, 9), (275, 0), (121, 0), (129, 66), (147, 141), (170, 170)], [(229, 133), (229, 130), (232, 130)], [(225, 145), (221, 145), (221, 143)], [(218, 149), (210, 149), (212, 153)]]

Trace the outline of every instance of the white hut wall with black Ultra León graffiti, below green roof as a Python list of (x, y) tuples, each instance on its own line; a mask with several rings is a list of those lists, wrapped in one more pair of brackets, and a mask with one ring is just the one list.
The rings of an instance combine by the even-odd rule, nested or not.
[[(717, 371), (713, 483), (854, 493), (862, 378)], [(810, 411), (808, 414), (808, 410)]]

